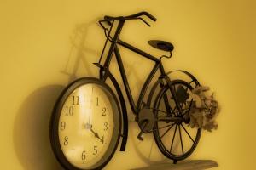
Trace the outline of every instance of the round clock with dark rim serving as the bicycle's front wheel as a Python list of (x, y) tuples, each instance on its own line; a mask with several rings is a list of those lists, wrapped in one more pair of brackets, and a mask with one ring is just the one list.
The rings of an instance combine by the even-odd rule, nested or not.
[(68, 170), (102, 169), (120, 137), (119, 103), (105, 82), (81, 78), (64, 89), (50, 122), (55, 156)]

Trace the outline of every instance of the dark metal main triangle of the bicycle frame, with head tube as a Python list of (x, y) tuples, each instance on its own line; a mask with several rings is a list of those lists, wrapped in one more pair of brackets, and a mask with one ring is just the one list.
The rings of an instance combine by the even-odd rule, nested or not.
[[(122, 30), (122, 27), (124, 26), (124, 23), (125, 23), (125, 20), (119, 20), (119, 24), (118, 24), (117, 29), (115, 31), (115, 34), (114, 34), (114, 36), (111, 40), (111, 46), (109, 48), (107, 59), (104, 62), (103, 68), (108, 70), (108, 67), (110, 65), (110, 61), (111, 61), (111, 59), (113, 57), (113, 53), (114, 53), (115, 56), (116, 56), (118, 65), (119, 65), (119, 71), (120, 71), (120, 74), (121, 74), (121, 77), (122, 77), (122, 81), (123, 81), (124, 86), (125, 86), (125, 92), (127, 94), (129, 103), (131, 105), (131, 110), (133, 111), (133, 114), (138, 115), (138, 112), (140, 111), (141, 106), (143, 105), (143, 99), (144, 99), (144, 96), (145, 96), (146, 91), (148, 89), (148, 85), (152, 81), (156, 71), (160, 70), (160, 76), (165, 77), (166, 82), (171, 82), (171, 80), (169, 79), (169, 77), (166, 77), (166, 71), (164, 70), (164, 67), (163, 67), (162, 62), (161, 62), (160, 59), (157, 59), (156, 57), (152, 56), (151, 54), (148, 54), (148, 53), (146, 53), (146, 52), (144, 52), (144, 51), (142, 51), (138, 48), (135, 48), (134, 46), (130, 45), (129, 43), (123, 42), (119, 39), (119, 34), (120, 34), (120, 31)], [(112, 26), (113, 26), (113, 23), (112, 23)], [(107, 41), (108, 41), (108, 39), (107, 39)], [(117, 44), (121, 45), (124, 48), (128, 48), (131, 51), (133, 51), (137, 54), (140, 54), (143, 57), (145, 57), (147, 59), (150, 59), (150, 60), (155, 62), (154, 68), (149, 73), (146, 81), (143, 84), (143, 88), (142, 88), (142, 90), (140, 92), (140, 95), (139, 95), (139, 98), (137, 100), (137, 105), (135, 105), (134, 99), (133, 99), (132, 94), (131, 94), (131, 88), (129, 86), (129, 82), (128, 82), (126, 74), (125, 74), (124, 65), (123, 65), (121, 55), (119, 53), (119, 47), (117, 46)], [(104, 48), (103, 48), (103, 50), (104, 50)], [(101, 61), (101, 59), (100, 59), (100, 61)], [(108, 74), (104, 74), (103, 71), (100, 71), (100, 77), (103, 81), (105, 81), (106, 78), (108, 77)]]

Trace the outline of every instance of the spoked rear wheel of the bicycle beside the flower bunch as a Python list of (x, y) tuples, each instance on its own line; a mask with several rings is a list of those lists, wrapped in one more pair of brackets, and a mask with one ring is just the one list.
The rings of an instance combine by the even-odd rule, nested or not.
[(180, 161), (195, 150), (201, 137), (201, 128), (189, 127), (189, 119), (184, 119), (189, 116), (190, 103), (193, 101), (189, 98), (189, 91), (193, 87), (183, 80), (175, 80), (172, 81), (172, 88), (183, 114), (177, 110), (171, 89), (168, 86), (161, 88), (154, 102), (154, 116), (158, 118), (154, 124), (154, 140), (162, 154), (174, 161)]

